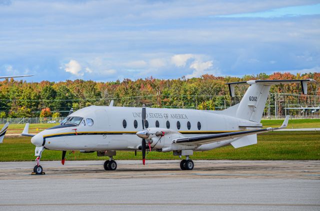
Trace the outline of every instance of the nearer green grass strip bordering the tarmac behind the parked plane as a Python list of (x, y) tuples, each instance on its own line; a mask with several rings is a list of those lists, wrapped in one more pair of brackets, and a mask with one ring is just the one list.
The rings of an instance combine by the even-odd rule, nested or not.
[[(5, 137), (0, 144), (0, 161), (33, 161), (34, 146), (29, 137)], [(75, 152), (67, 160), (105, 160), (96, 153), (84, 154)], [(141, 153), (117, 151), (116, 160), (140, 160)], [(151, 152), (147, 159), (178, 159), (171, 153)], [(61, 151), (46, 150), (42, 160), (60, 160)], [(269, 132), (258, 135), (258, 143), (234, 149), (222, 147), (206, 152), (195, 152), (193, 160), (320, 160), (320, 132), (289, 131)]]

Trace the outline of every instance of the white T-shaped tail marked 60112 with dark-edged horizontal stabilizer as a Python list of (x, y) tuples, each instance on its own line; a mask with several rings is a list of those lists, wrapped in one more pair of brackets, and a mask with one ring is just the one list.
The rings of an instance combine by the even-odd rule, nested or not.
[(234, 97), (234, 86), (238, 84), (249, 84), (242, 97), (235, 117), (253, 122), (260, 122), (265, 107), (265, 103), (269, 94), (270, 86), (276, 84), (300, 83), (302, 93), (306, 94), (307, 82), (316, 82), (313, 79), (303, 80), (251, 80), (246, 82), (227, 83), (231, 97)]

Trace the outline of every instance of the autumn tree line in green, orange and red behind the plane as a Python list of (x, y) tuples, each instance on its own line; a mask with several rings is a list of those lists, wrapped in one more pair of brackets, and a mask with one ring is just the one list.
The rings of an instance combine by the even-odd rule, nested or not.
[[(60, 82), (26, 82), (5, 79), (0, 81), (0, 118), (59, 117), (90, 105), (196, 108), (214, 110), (237, 103), (247, 87), (235, 89), (237, 97), (231, 99), (225, 83), (256, 79), (306, 79), (320, 81), (320, 73), (273, 73), (221, 77), (202, 75), (186, 79), (124, 79), (123, 81), (95, 82), (91, 80), (66, 80)], [(270, 92), (300, 94), (299, 84), (272, 86)], [(317, 84), (309, 84), (311, 95), (320, 95)], [(292, 97), (292, 100), (295, 100)]]

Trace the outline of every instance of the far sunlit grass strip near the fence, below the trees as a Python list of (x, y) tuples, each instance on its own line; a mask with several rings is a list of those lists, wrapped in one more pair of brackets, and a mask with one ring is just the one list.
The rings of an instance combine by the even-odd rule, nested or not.
[[(283, 120), (262, 120), (261, 123), (263, 127), (279, 127), (282, 124)], [(29, 133), (38, 133), (44, 129), (53, 127), (58, 124), (30, 124)], [(3, 125), (0, 125), (2, 128)], [(320, 119), (293, 119), (289, 120), (287, 128), (319, 128)], [(19, 134), (23, 131), (24, 124), (12, 124), (9, 125), (7, 130), (8, 134)]]

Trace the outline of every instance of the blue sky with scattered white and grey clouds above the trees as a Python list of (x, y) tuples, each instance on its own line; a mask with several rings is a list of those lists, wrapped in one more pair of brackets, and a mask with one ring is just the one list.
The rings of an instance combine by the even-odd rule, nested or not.
[(0, 0), (0, 75), (320, 72), (320, 0)]

